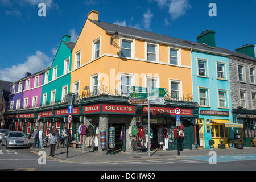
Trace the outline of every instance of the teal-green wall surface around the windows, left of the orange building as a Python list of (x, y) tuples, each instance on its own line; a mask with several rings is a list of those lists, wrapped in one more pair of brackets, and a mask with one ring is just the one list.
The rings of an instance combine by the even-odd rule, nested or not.
[[(69, 40), (69, 39), (65, 39)], [(64, 73), (64, 61), (69, 58), (69, 73)], [(57, 65), (57, 79), (52, 81), (52, 72), (53, 68)], [(63, 86), (68, 85), (68, 93), (70, 89), (70, 80), (71, 80), (71, 65), (72, 65), (72, 51), (65, 45), (64, 42), (61, 41), (59, 49), (56, 53), (55, 59), (49, 69), (48, 82), (45, 83), (46, 73), (43, 75), (43, 87), (42, 87), (42, 98), (41, 98), (41, 106), (43, 104), (43, 94), (47, 93), (47, 102), (49, 105), (51, 102), (51, 91), (56, 90), (55, 92), (55, 102), (60, 102), (62, 97)]]

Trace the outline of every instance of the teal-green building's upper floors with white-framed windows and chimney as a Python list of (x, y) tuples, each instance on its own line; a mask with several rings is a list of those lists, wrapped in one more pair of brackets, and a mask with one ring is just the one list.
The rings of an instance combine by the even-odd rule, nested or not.
[(41, 106), (65, 102), (71, 81), (72, 49), (75, 43), (64, 35), (51, 67), (43, 75)]

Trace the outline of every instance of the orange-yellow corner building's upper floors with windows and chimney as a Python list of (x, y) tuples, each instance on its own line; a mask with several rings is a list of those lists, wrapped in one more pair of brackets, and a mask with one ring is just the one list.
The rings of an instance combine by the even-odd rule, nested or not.
[[(134, 38), (122, 32), (123, 28), (136, 31), (134, 28), (100, 22), (98, 14), (94, 10), (88, 14), (73, 48), (71, 92), (80, 97), (86, 92), (127, 94), (127, 86), (152, 86), (166, 88), (169, 97), (192, 97), (189, 48)], [(121, 35), (112, 45), (108, 26)]]

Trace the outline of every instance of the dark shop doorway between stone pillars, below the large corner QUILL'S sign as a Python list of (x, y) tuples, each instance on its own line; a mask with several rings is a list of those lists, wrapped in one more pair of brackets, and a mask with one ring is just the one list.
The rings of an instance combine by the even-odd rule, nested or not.
[(120, 123), (119, 124), (110, 123), (109, 128), (110, 127), (115, 128), (115, 148), (113, 148), (114, 152), (125, 151), (125, 132), (123, 134), (123, 141), (120, 140), (122, 127), (124, 127), (124, 131), (125, 131), (125, 125)]

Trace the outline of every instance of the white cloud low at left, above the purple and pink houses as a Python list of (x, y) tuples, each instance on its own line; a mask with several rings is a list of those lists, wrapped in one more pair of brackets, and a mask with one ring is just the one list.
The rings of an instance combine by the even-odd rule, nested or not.
[(0, 80), (17, 81), (25, 76), (26, 72), (36, 73), (51, 65), (51, 58), (45, 53), (36, 51), (35, 55), (28, 56), (23, 64), (13, 65), (11, 68), (0, 69)]

